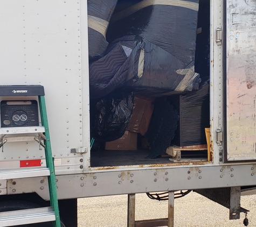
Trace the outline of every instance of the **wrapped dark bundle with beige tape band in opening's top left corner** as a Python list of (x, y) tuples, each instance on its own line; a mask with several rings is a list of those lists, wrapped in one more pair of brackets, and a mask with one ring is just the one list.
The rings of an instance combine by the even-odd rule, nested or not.
[(99, 59), (106, 51), (106, 32), (117, 0), (88, 0), (89, 59)]

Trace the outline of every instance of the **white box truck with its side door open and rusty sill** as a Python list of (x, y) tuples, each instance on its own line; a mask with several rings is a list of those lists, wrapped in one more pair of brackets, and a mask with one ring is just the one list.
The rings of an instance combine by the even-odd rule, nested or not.
[[(199, 12), (201, 5), (198, 25), (210, 31), (210, 110), (202, 112), (209, 149), (205, 156), (196, 146), (196, 159), (181, 146), (171, 157), (144, 159), (139, 146), (91, 151), (87, 1), (0, 1), (0, 226), (77, 226), (77, 198), (121, 194), (135, 226), (135, 194), (160, 191), (168, 192), (169, 217), (150, 226), (174, 226), (179, 190), (219, 202), (230, 219), (247, 211), (240, 196), (256, 185), (256, 2), (202, 0)], [(199, 40), (205, 30), (197, 30)], [(36, 210), (45, 207), (45, 216)]]

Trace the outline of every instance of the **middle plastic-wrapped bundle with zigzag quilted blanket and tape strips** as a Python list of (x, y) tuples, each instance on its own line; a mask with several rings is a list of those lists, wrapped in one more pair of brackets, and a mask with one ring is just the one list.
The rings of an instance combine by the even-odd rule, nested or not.
[[(138, 36), (124, 36), (109, 44), (106, 55), (89, 65), (91, 98), (121, 86), (142, 95), (167, 95), (199, 88), (193, 63), (185, 64), (164, 49)], [(177, 70), (178, 68), (178, 70)]]

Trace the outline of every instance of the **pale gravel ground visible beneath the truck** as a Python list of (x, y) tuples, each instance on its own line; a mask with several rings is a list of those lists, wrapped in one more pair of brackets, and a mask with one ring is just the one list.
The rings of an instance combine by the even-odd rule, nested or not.
[[(241, 197), (241, 207), (248, 212), (248, 226), (256, 226), (256, 195)], [(168, 201), (150, 200), (146, 194), (136, 194), (135, 220), (166, 218)], [(244, 214), (229, 220), (229, 210), (197, 193), (175, 199), (175, 227), (244, 226)], [(80, 198), (78, 227), (126, 227), (127, 195)]]

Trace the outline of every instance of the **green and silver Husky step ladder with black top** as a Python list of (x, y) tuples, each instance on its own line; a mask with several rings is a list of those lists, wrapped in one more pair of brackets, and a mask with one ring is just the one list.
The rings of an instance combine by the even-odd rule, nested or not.
[[(25, 209), (0, 212), (0, 227), (15, 226), (23, 224), (41, 223), (52, 221), (53, 227), (60, 227), (58, 197), (56, 176), (54, 171), (54, 162), (51, 151), (51, 141), (49, 126), (46, 114), (46, 105), (43, 86), (0, 86), (0, 96), (38, 96), (41, 125), (42, 126), (18, 126), (18, 127), (1, 127), (0, 128), (0, 147), (6, 142), (13, 141), (30, 141), (36, 140), (40, 146), (45, 147), (46, 167), (34, 167), (24, 169), (8, 169), (0, 171), (0, 179), (17, 179), (17, 178), (33, 178), (37, 176), (47, 176), (49, 184), (49, 194), (51, 207)], [(23, 100), (22, 100), (23, 101)], [(1, 118), (2, 120), (2, 118)], [(20, 134), (34, 134), (37, 136), (20, 136)], [(12, 136), (5, 137), (7, 134)], [(44, 141), (44, 143), (43, 143)]]

